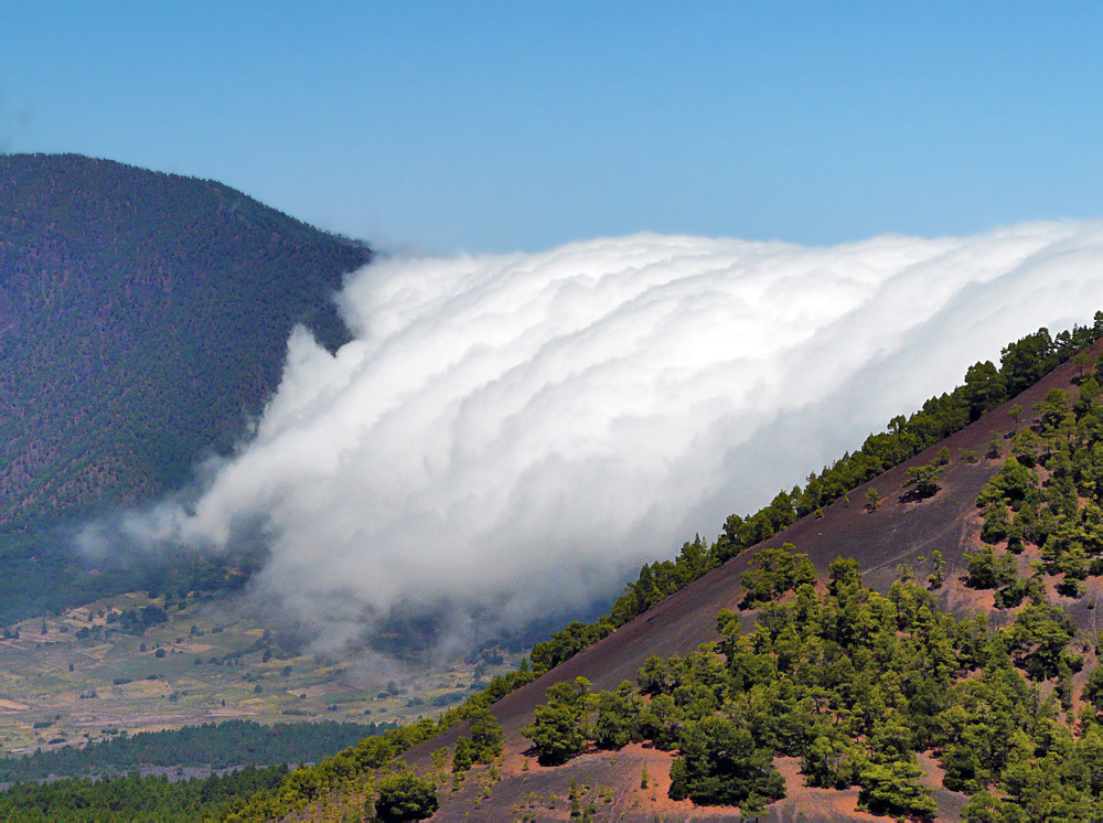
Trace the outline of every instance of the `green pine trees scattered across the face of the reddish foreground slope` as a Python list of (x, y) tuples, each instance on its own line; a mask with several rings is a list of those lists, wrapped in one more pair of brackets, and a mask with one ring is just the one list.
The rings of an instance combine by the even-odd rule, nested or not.
[[(850, 559), (834, 559), (824, 586), (792, 544), (752, 552), (741, 613), (717, 618), (720, 642), (652, 656), (613, 691), (548, 687), (525, 753), (561, 768), (645, 741), (672, 752), (670, 801), (745, 815), (838, 792), (836, 810), (898, 819), (1103, 817), (1103, 357), (1074, 366), (1070, 388), (1005, 406), (1010, 430), (983, 456), (998, 470), (974, 513), (951, 513), (968, 524), (956, 563), (920, 555), (882, 595)], [(943, 448), (909, 467), (907, 505), (938, 498), (952, 463), (979, 459)], [(865, 500), (877, 519), (881, 496)]]

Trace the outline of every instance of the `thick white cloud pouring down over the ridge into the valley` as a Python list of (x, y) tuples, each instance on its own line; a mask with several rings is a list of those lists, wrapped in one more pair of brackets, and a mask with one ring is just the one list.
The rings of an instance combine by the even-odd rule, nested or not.
[(1103, 308), (1103, 222), (835, 247), (633, 235), (389, 259), (355, 340), (297, 331), (255, 437), (132, 532), (271, 549), (332, 643), (396, 606), (516, 628), (623, 586), (860, 445), (976, 360)]

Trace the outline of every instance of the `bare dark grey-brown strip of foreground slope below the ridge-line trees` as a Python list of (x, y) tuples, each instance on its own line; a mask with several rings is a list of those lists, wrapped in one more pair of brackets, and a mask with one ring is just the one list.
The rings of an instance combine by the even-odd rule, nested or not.
[[(1092, 357), (1101, 349), (1103, 343), (1092, 346)], [(614, 688), (622, 681), (634, 682), (638, 670), (651, 654), (684, 654), (703, 642), (718, 639), (715, 630), (716, 614), (720, 609), (733, 608), (739, 601), (739, 576), (747, 569), (750, 556), (762, 546), (794, 543), (800, 552), (808, 554), (822, 574), (826, 573), (834, 558), (854, 557), (861, 565), (867, 584), (880, 589), (888, 588), (892, 582), (898, 563), (914, 563), (920, 556), (930, 557), (935, 548), (941, 549), (945, 556), (947, 579), (961, 574), (964, 570), (962, 555), (968, 544), (967, 524), (976, 512), (977, 494), (1003, 461), (982, 459), (968, 464), (960, 459), (959, 450), (975, 449), (983, 453), (985, 443), (993, 434), (1005, 436), (1011, 431), (1014, 423), (1007, 412), (1014, 404), (1018, 403), (1025, 409), (1030, 409), (1049, 389), (1069, 388), (1074, 375), (1075, 366), (1071, 362), (1065, 363), (1040, 383), (967, 428), (852, 491), (849, 503), (846, 500), (837, 501), (824, 511), (823, 517), (812, 515), (799, 521), (782, 534), (748, 549), (536, 682), (494, 704), (493, 712), (505, 727), (507, 750), (518, 752), (528, 747), (529, 742), (521, 735), (521, 729), (531, 723), (533, 709), (544, 702), (544, 691), (553, 683), (583, 676), (591, 681), (595, 690)], [(1022, 425), (1027, 425), (1028, 419), (1032, 418), (1025, 418)], [(911, 466), (930, 462), (943, 446), (950, 447), (953, 459), (941, 478), (942, 491), (922, 503), (903, 502), (906, 470)], [(870, 485), (885, 498), (874, 513), (863, 509), (865, 492)], [(943, 592), (943, 606), (955, 606), (947, 602), (953, 597), (952, 590), (953, 587), (947, 586)], [(1075, 616), (1075, 609), (1070, 609), (1070, 613)], [(408, 759), (410, 762), (427, 765), (430, 751), (453, 745), (463, 731), (464, 726), (458, 726), (414, 749)], [(554, 780), (552, 774), (542, 779), (556, 782), (560, 795), (566, 794), (566, 783), (572, 778), (577, 778), (579, 783), (595, 779), (595, 776), (587, 772), (590, 766), (586, 763), (598, 763), (597, 757), (581, 758), (574, 762), (576, 765), (572, 769), (561, 770), (565, 776), (561, 780)], [(631, 758), (627, 758), (625, 763), (632, 766), (623, 765), (622, 770), (639, 769), (639, 763)], [(652, 773), (657, 773), (654, 768)], [(624, 784), (631, 783), (633, 778), (639, 780), (639, 771), (628, 776)], [(528, 784), (533, 782), (536, 782), (536, 776), (518, 773), (516, 778), (507, 778), (495, 789), (495, 800), (491, 801), (496, 811), (489, 811), (491, 803), (483, 805), (484, 813), (490, 815), (486, 819), (494, 819), (497, 813), (505, 814), (515, 809), (517, 798), (523, 798), (531, 791)], [(611, 777), (608, 782), (612, 782)], [(462, 816), (467, 809), (462, 806), (462, 799), (457, 797), (453, 800), (454, 795), (447, 793), (442, 797), (446, 800), (439, 819)], [(963, 802), (960, 797), (955, 798), (942, 790), (936, 797), (943, 809), (954, 808), (955, 803), (960, 805)], [(853, 802), (850, 806), (853, 810)], [(784, 813), (795, 814), (788, 805), (785, 810), (788, 811)], [(668, 811), (676, 816), (687, 813), (687, 809)], [(634, 812), (623, 813), (628, 819), (634, 819)], [(722, 816), (722, 812), (717, 813)], [(784, 816), (781, 806), (774, 813)], [(642, 812), (641, 815), (640, 819), (651, 816), (650, 813)], [(818, 819), (834, 817), (834, 814), (828, 814), (823, 809), (816, 815)], [(838, 819), (854, 816), (849, 812), (839, 812)]]

